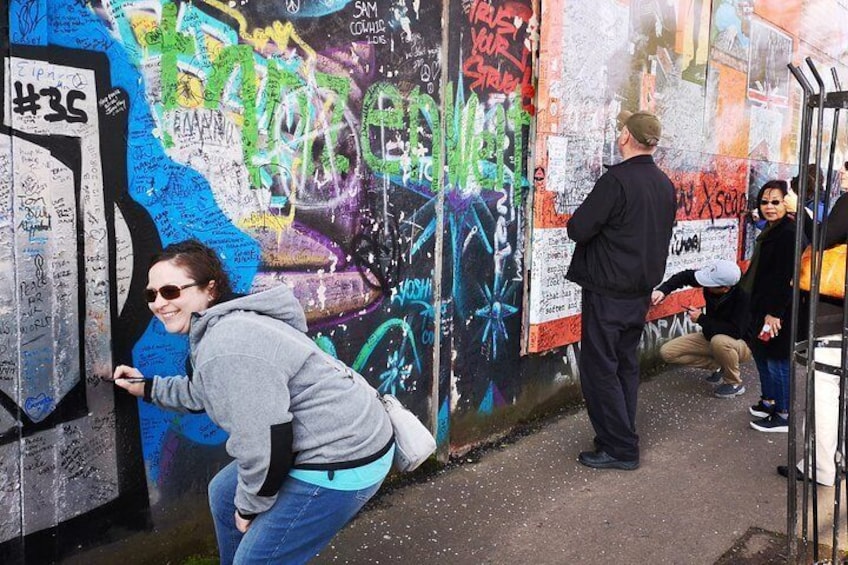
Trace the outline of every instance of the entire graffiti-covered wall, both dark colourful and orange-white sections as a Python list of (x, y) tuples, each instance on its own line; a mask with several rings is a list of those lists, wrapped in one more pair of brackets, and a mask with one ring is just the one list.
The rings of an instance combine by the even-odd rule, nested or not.
[[(291, 285), (316, 341), (428, 422), (442, 460), (574, 401), (573, 306), (525, 304), (561, 281), (567, 249), (545, 253), (612, 156), (611, 117), (667, 124), (670, 268), (715, 220), (744, 260), (747, 196), (797, 143), (797, 92), (771, 73), (844, 56), (835, 0), (749, 4), (0, 0), (0, 560), (210, 546), (224, 434), (100, 382), (118, 362), (184, 372), (141, 290), (187, 237), (238, 291)], [(556, 177), (549, 137), (571, 148)], [(693, 329), (681, 300), (652, 313), (646, 363)]]

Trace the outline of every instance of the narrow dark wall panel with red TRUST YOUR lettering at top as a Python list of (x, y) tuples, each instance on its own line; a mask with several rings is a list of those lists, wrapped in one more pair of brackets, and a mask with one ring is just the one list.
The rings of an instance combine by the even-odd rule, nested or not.
[[(520, 396), (527, 152), (538, 18), (529, 1), (452, 2), (445, 91), (443, 310), (452, 317), (452, 420)], [(461, 354), (459, 354), (461, 352)], [(443, 407), (445, 412), (447, 407)], [(465, 426), (452, 443), (473, 438)], [(477, 433), (479, 436), (479, 432)]]

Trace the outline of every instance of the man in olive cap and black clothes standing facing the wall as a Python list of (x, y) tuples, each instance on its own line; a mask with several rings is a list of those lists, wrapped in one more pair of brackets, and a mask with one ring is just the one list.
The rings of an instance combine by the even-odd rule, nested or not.
[(608, 167), (568, 220), (577, 242), (566, 278), (583, 287), (580, 386), (595, 430), (595, 450), (579, 461), (600, 469), (636, 469), (638, 347), (668, 257), (674, 185), (653, 154), (662, 134), (648, 112), (622, 112), (623, 161)]

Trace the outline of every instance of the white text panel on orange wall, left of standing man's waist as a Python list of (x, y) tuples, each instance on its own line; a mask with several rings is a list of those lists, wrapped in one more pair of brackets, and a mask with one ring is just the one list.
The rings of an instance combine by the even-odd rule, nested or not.
[(580, 310), (580, 287), (565, 280), (574, 253), (574, 242), (565, 228), (533, 232), (533, 265), (530, 289), (530, 323), (542, 324)]

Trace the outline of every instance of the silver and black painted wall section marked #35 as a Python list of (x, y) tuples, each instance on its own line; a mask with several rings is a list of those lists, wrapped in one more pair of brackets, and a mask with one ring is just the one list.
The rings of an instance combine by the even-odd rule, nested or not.
[(3, 51), (0, 542), (7, 542), (123, 504), (144, 491), (144, 478), (132, 441), (134, 403), (101, 381), (111, 371), (111, 336), (123, 329), (117, 288), (128, 282), (114, 245), (126, 171), (104, 166), (123, 162), (126, 99), (110, 84), (102, 54)]

